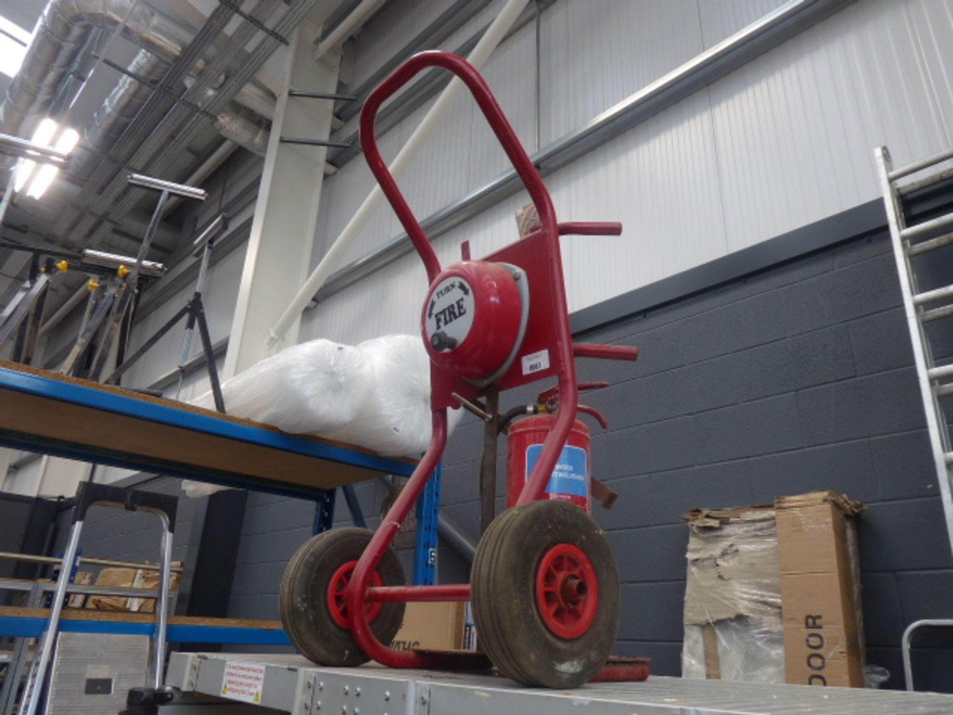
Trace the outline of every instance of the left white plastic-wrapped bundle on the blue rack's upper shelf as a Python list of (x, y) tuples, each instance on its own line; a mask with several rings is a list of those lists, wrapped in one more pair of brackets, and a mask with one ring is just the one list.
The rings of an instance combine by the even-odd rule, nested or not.
[[(287, 347), (226, 380), (222, 398), (229, 415), (294, 434), (327, 435), (361, 414), (374, 382), (363, 351), (319, 339)], [(211, 392), (193, 404), (215, 408)]]

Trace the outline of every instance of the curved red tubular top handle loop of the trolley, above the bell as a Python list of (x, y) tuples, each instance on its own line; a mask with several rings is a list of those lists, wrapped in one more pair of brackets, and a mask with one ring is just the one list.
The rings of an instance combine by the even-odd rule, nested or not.
[(430, 245), (430, 241), (427, 240), (427, 236), (423, 233), (423, 229), (420, 228), (420, 224), (416, 220), (414, 212), (407, 204), (407, 200), (403, 194), (400, 193), (400, 189), (394, 180), (394, 175), (391, 174), (387, 163), (380, 155), (375, 137), (375, 119), (377, 117), (377, 110), (380, 109), (381, 104), (383, 104), (388, 97), (394, 94), (403, 85), (407, 84), (417, 72), (425, 70), (428, 67), (440, 67), (453, 72), (474, 95), (477, 106), (483, 112), (487, 122), (489, 122), (493, 133), (497, 135), (497, 139), (502, 145), (503, 151), (510, 157), (510, 161), (513, 162), (513, 166), (517, 170), (519, 178), (522, 179), (523, 184), (526, 186), (530, 198), (532, 198), (533, 203), (536, 204), (542, 230), (546, 232), (549, 240), (557, 241), (558, 227), (556, 222), (556, 210), (553, 208), (553, 200), (550, 198), (549, 192), (546, 190), (546, 185), (542, 182), (542, 178), (537, 172), (537, 168), (533, 166), (529, 154), (526, 153), (522, 144), (519, 143), (517, 133), (513, 131), (509, 120), (506, 118), (506, 115), (503, 114), (503, 111), (497, 104), (497, 100), (494, 98), (493, 93), (490, 92), (490, 88), (486, 82), (479, 75), (479, 72), (476, 72), (473, 65), (453, 52), (419, 52), (401, 65), (394, 74), (385, 79), (374, 92), (371, 92), (371, 95), (364, 103), (364, 109), (360, 115), (360, 140), (365, 157), (367, 158), (367, 163), (371, 167), (371, 171), (374, 173), (377, 183), (380, 184), (384, 195), (387, 196), (387, 199), (391, 202), (391, 206), (394, 207), (394, 211), (400, 219), (404, 230), (407, 232), (407, 235), (410, 236), (411, 241), (413, 241), (417, 253), (420, 254), (420, 258), (427, 268), (427, 276), (431, 281), (436, 278), (436, 275), (440, 272), (440, 261), (437, 259), (436, 253)]

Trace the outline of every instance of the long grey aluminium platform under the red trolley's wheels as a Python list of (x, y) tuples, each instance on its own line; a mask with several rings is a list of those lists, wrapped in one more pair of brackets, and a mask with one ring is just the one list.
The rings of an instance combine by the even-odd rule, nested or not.
[[(250, 667), (251, 666), (251, 667)], [(251, 677), (222, 695), (226, 670)], [(248, 676), (251, 674), (251, 676)], [(257, 679), (257, 681), (255, 681)], [(300, 656), (172, 653), (166, 684), (292, 715), (950, 715), (953, 695), (900, 690), (692, 681), (526, 688), (489, 674), (326, 668)]]

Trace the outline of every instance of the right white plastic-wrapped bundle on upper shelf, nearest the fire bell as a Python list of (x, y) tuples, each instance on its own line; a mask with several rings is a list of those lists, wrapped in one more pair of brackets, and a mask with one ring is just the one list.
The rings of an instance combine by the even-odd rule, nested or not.
[[(357, 346), (374, 365), (375, 389), (360, 414), (326, 435), (389, 457), (419, 457), (430, 444), (430, 358), (420, 336), (375, 337)], [(449, 429), (460, 419), (450, 410)]]

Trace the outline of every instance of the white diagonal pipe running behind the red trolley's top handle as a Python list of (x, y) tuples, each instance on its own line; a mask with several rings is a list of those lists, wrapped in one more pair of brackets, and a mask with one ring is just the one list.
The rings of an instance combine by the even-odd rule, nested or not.
[[(494, 20), (490, 27), (487, 28), (487, 31), (483, 33), (479, 42), (476, 43), (476, 47), (470, 53), (470, 56), (467, 57), (470, 64), (476, 67), (477, 70), (483, 66), (490, 54), (497, 49), (497, 45), (502, 41), (503, 36), (510, 31), (510, 28), (514, 26), (519, 13), (523, 11), (523, 8), (526, 7), (528, 2), (529, 0), (507, 0), (506, 5), (497, 15), (497, 19)], [(454, 77), (453, 81), (447, 86), (447, 89), (437, 97), (434, 106), (431, 107), (430, 112), (427, 112), (423, 121), (417, 126), (416, 131), (411, 135), (410, 139), (407, 140), (407, 143), (400, 152), (397, 153), (394, 163), (392, 163), (390, 167), (392, 174), (399, 174), (414, 154), (416, 154), (417, 150), (423, 144), (424, 139), (431, 132), (436, 123), (447, 113), (456, 97), (460, 92), (463, 92), (463, 89), (463, 82)], [(284, 339), (288, 329), (292, 327), (294, 321), (297, 320), (301, 312), (304, 311), (314, 294), (317, 293), (318, 289), (320, 289), (328, 277), (331, 276), (341, 256), (351, 247), (357, 234), (364, 228), (364, 225), (371, 215), (374, 214), (383, 195), (384, 194), (380, 191), (380, 187), (375, 185), (374, 190), (368, 194), (367, 198), (364, 199), (364, 202), (355, 212), (355, 215), (348, 221), (348, 225), (345, 226), (341, 234), (337, 236), (331, 248), (328, 249), (328, 253), (321, 258), (311, 276), (308, 276), (304, 285), (301, 286), (301, 290), (294, 296), (294, 300), (274, 324), (271, 331), (272, 335), (268, 339), (268, 347), (270, 350), (274, 348), (274, 345), (279, 340)]]

